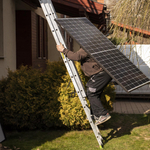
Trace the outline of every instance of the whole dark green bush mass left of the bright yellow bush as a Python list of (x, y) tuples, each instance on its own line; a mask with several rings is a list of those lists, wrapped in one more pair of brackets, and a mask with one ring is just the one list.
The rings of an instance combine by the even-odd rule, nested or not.
[(41, 129), (61, 126), (57, 100), (63, 62), (47, 64), (41, 73), (38, 69), (22, 66), (0, 82), (0, 114), (4, 126), (16, 129)]

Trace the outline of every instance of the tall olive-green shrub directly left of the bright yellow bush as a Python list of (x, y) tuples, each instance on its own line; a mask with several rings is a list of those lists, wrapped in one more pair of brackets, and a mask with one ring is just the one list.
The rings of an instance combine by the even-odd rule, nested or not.
[(50, 63), (47, 66), (43, 77), (43, 96), (48, 103), (45, 105), (45, 113), (43, 121), (46, 127), (61, 127), (62, 123), (59, 120), (60, 103), (59, 87), (63, 82), (63, 75), (66, 74), (66, 67), (62, 61)]

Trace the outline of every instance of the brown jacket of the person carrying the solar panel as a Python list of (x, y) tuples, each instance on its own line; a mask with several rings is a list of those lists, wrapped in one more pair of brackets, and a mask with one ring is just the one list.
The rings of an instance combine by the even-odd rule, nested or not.
[(103, 69), (91, 58), (82, 48), (77, 52), (72, 52), (68, 49), (64, 49), (64, 55), (73, 61), (81, 62), (81, 69), (88, 77), (103, 71)]

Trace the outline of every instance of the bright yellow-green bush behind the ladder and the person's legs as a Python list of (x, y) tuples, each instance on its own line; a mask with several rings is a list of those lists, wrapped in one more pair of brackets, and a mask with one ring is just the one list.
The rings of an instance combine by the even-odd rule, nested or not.
[[(83, 72), (80, 69), (80, 64), (76, 63), (76, 67), (78, 73), (80, 75), (81, 81), (83, 85), (86, 85), (88, 78), (86, 78)], [(71, 129), (87, 129), (90, 127), (88, 120), (86, 119), (86, 114), (81, 105), (81, 102), (77, 96), (74, 94), (74, 87), (72, 82), (70, 82), (69, 74), (64, 75), (64, 82), (61, 84), (59, 89), (60, 96), (59, 101), (61, 103), (60, 108), (60, 120), (62, 120), (63, 124)], [(69, 86), (68, 86), (69, 85)], [(102, 103), (104, 107), (108, 110), (112, 110), (112, 104), (115, 100), (115, 88), (114, 85), (109, 84), (102, 94)], [(87, 101), (88, 102), (88, 101)], [(89, 102), (88, 102), (89, 103)]]

